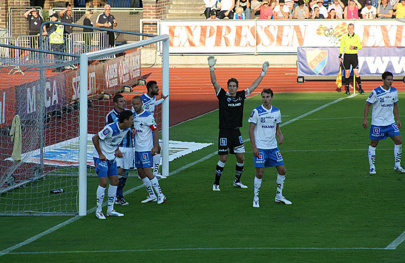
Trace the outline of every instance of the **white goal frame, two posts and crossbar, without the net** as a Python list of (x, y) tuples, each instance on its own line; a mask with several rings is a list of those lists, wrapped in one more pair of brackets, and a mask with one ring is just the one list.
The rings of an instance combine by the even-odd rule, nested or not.
[[(169, 95), (169, 35), (159, 35), (126, 45), (105, 50), (83, 53), (80, 55), (79, 85), (79, 182), (78, 182), (78, 214), (87, 214), (87, 135), (88, 135), (88, 62), (99, 58), (114, 56), (128, 50), (157, 45), (161, 43), (161, 75), (162, 93)], [(162, 104), (162, 174), (169, 175), (169, 98)]]

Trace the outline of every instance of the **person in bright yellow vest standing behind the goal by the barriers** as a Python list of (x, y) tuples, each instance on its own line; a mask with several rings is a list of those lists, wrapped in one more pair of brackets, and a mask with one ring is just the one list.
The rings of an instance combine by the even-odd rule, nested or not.
[[(59, 16), (58, 13), (54, 13), (50, 16), (51, 21), (58, 21)], [(63, 45), (64, 45), (64, 38), (63, 38), (63, 25), (51, 24), (48, 32), (49, 32), (49, 43), (52, 51), (63, 52)], [(55, 57), (55, 64), (60, 64), (63, 62), (63, 56), (61, 55), (54, 55)], [(64, 67), (57, 67), (52, 72), (62, 72)]]

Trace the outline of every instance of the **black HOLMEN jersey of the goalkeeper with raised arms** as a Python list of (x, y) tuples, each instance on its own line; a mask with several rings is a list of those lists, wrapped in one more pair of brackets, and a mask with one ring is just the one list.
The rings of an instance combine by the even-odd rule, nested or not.
[(236, 92), (235, 97), (229, 96), (224, 89), (217, 95), (219, 101), (219, 128), (236, 129), (242, 126), (244, 102), (249, 90)]

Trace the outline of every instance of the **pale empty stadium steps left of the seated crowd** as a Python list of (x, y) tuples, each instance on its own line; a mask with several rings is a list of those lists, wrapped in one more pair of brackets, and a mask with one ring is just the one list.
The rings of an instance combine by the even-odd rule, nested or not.
[(166, 13), (166, 19), (205, 19), (204, 9), (198, 10), (203, 5), (204, 2), (200, 0), (172, 0)]

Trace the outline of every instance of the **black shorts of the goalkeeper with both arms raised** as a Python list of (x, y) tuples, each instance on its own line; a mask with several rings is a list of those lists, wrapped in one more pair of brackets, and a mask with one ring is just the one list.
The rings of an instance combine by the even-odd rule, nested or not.
[(244, 153), (245, 146), (244, 140), (240, 134), (239, 128), (237, 129), (219, 129), (218, 136), (218, 154), (235, 154)]

